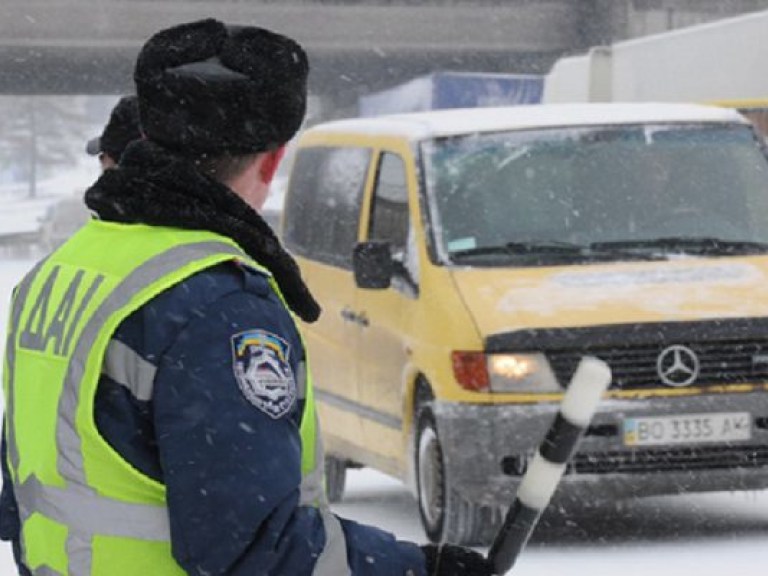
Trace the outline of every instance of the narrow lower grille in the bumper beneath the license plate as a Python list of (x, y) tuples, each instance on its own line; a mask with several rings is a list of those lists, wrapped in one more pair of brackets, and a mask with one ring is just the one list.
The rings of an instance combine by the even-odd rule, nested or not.
[(707, 446), (663, 450), (621, 450), (578, 453), (568, 465), (570, 474), (631, 474), (685, 472), (768, 466), (768, 446)]

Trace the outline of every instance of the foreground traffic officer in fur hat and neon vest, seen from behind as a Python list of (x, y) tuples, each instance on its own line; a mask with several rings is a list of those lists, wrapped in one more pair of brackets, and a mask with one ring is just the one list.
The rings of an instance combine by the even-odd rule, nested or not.
[(210, 19), (143, 46), (145, 138), (14, 292), (0, 531), (22, 574), (491, 573), (324, 500), (293, 318), (320, 308), (258, 215), (307, 73), (293, 40)]

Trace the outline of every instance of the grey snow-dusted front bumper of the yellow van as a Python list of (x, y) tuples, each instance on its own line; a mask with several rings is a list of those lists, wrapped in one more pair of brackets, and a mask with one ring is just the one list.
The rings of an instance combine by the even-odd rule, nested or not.
[[(508, 503), (559, 403), (434, 405), (451, 486), (486, 505)], [(628, 417), (749, 412), (751, 438), (729, 443), (628, 447)], [(768, 392), (606, 399), (577, 447), (558, 496), (620, 499), (768, 488)]]

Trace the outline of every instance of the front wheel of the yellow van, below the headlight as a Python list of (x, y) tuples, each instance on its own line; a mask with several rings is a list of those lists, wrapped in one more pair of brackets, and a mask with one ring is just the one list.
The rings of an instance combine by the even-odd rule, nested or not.
[(435, 418), (429, 408), (419, 411), (418, 426), (416, 489), (419, 516), (427, 538), (435, 544), (490, 544), (500, 524), (499, 514), (462, 498), (451, 488)]

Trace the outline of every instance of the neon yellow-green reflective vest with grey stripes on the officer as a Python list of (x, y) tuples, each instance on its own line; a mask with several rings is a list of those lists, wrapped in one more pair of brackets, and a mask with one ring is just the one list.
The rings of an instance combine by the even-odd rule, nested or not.
[[(23, 561), (35, 576), (185, 574), (171, 555), (165, 487), (102, 438), (94, 401), (120, 323), (160, 292), (227, 260), (264, 271), (280, 296), (269, 272), (226, 237), (99, 220), (18, 286), (4, 366), (6, 440)], [(320, 505), (322, 447), (305, 372), (301, 502)]]

